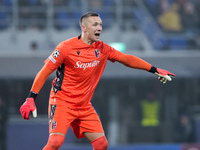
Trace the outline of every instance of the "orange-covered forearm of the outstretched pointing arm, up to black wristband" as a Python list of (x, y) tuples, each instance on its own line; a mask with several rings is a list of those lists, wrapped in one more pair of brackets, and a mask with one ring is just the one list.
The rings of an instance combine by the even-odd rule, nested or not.
[(135, 69), (141, 69), (146, 71), (149, 71), (151, 69), (151, 64), (133, 55), (127, 55), (122, 53), (118, 59), (118, 62), (124, 64), (127, 67)]

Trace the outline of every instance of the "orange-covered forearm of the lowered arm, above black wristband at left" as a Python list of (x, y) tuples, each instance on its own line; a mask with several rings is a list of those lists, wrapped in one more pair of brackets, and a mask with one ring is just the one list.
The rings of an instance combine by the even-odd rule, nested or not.
[(38, 72), (36, 75), (31, 91), (34, 91), (35, 93), (39, 93), (42, 86), (44, 85), (45, 81), (49, 77), (50, 74), (52, 74), (54, 70), (50, 69), (46, 64), (42, 67), (42, 69)]

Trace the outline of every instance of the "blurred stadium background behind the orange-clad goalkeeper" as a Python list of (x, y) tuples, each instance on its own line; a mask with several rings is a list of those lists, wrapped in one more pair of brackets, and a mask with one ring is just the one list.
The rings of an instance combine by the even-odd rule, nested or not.
[[(199, 7), (199, 0), (0, 0), (0, 96), (6, 107), (0, 106), (0, 139), (7, 150), (46, 144), (55, 74), (37, 98), (37, 119), (24, 121), (19, 108), (54, 47), (80, 34), (78, 21), (87, 11), (100, 14), (105, 43), (177, 75), (163, 85), (150, 73), (108, 62), (92, 103), (109, 149), (200, 150)], [(152, 95), (155, 101), (143, 101)], [(61, 147), (89, 149), (71, 130)]]

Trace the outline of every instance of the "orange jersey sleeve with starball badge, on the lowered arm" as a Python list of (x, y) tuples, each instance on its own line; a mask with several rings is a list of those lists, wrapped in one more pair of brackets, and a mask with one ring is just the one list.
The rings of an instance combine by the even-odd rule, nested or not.
[(66, 56), (65, 43), (61, 42), (58, 46), (56, 46), (55, 50), (44, 61), (44, 63), (52, 70), (56, 70), (60, 65), (64, 63), (65, 56)]

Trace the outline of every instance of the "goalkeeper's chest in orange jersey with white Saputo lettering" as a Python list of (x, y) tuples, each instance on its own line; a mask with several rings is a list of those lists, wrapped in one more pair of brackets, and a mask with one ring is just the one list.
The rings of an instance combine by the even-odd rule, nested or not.
[(102, 53), (101, 49), (73, 49), (66, 57), (65, 71), (77, 81), (96, 78), (103, 72), (106, 62), (107, 54)]

